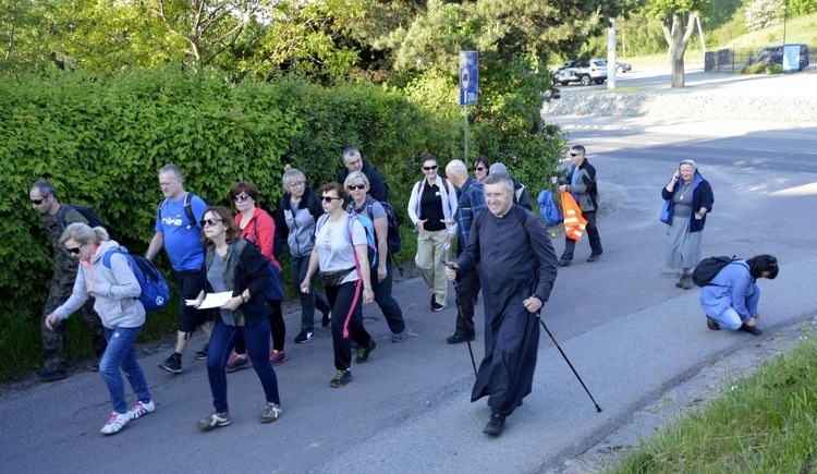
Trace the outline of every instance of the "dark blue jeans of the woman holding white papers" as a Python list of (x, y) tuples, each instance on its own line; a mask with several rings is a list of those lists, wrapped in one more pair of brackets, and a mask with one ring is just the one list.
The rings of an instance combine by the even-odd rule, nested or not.
[(272, 364), (269, 363), (269, 319), (264, 318), (252, 326), (228, 326), (221, 318), (216, 319), (210, 333), (210, 345), (207, 350), (207, 377), (210, 379), (212, 406), (219, 413), (228, 411), (227, 406), (227, 360), (235, 347), (239, 335), (244, 337), (249, 361), (261, 380), (264, 394), (268, 402), (281, 403), (278, 398), (278, 378)]

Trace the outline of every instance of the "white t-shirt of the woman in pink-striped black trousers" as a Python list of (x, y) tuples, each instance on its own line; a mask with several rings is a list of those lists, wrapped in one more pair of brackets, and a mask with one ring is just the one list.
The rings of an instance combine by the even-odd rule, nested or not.
[[(346, 219), (338, 222), (327, 219), (315, 232), (315, 248), (318, 250), (318, 267), (320, 271), (339, 271), (355, 268), (355, 251), (349, 243), (346, 233)], [(352, 242), (355, 245), (367, 245), (366, 229), (357, 219), (350, 222), (352, 226)], [(357, 271), (350, 271), (341, 283), (357, 281)]]

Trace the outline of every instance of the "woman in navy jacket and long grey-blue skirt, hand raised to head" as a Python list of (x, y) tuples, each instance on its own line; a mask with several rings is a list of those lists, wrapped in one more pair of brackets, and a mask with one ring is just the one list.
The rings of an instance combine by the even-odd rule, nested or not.
[(670, 227), (667, 266), (681, 269), (675, 287), (692, 288), (692, 269), (700, 262), (700, 243), (706, 216), (712, 211), (712, 186), (693, 160), (683, 160), (672, 180), (661, 189), (664, 200), (661, 221)]

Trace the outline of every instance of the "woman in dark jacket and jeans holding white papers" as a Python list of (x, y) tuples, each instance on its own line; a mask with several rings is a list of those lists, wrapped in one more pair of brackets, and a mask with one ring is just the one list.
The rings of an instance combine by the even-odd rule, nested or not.
[(241, 231), (225, 207), (208, 207), (200, 222), (207, 253), (202, 268), (202, 293), (195, 305), (202, 305), (205, 293), (229, 291), (232, 297), (214, 312), (216, 319), (207, 353), (207, 376), (212, 391), (212, 412), (198, 422), (210, 430), (230, 424), (227, 406), (227, 361), (239, 335), (244, 338), (249, 361), (264, 387), (267, 404), (261, 423), (272, 423), (283, 411), (278, 396), (276, 370), (269, 362), (269, 315), (272, 308), (264, 295), (270, 283), (269, 264), (258, 247), (239, 238)]

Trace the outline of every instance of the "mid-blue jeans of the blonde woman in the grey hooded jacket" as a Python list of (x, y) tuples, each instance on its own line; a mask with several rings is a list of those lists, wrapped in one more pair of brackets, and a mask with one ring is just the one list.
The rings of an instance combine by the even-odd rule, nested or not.
[(136, 360), (136, 351), (133, 349), (133, 343), (139, 332), (142, 332), (142, 326), (137, 328), (105, 328), (108, 348), (99, 362), (99, 373), (108, 385), (111, 404), (117, 413), (127, 413), (125, 384), (122, 380), (120, 368), (125, 373), (127, 381), (139, 401), (148, 403), (151, 400), (145, 374), (142, 373), (139, 362)]

